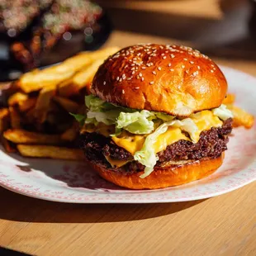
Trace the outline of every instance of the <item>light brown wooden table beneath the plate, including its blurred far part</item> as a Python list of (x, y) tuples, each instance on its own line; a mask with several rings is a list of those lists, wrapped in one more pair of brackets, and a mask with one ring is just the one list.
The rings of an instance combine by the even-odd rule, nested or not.
[[(208, 44), (207, 36), (203, 37), (203, 31), (209, 30), (221, 36), (220, 21), (225, 21), (225, 13), (230, 19), (234, 12), (240, 17), (237, 6), (241, 4), (239, 10), (244, 10), (242, 0), (220, 1), (222, 12), (214, 0), (106, 2), (102, 3), (109, 8), (116, 25), (107, 45), (151, 41), (196, 45), (219, 64), (256, 75), (254, 50), (249, 51), (249, 46), (245, 50), (241, 45), (234, 46), (232, 41), (244, 40), (243, 33), (239, 35), (242, 39), (235, 34), (237, 31), (234, 31), (236, 39), (227, 35), (230, 37), (225, 44)], [(125, 18), (126, 24), (119, 24)], [(185, 18), (187, 23), (183, 21)], [(170, 22), (175, 20), (183, 21), (178, 32), (175, 32), (177, 24)], [(152, 31), (149, 28), (143, 31), (140, 24), (145, 21)], [(195, 38), (191, 32), (184, 36), (191, 30), (200, 33)], [(245, 41), (254, 45), (246, 38)], [(207, 44), (211, 47), (205, 47)], [(255, 183), (220, 197), (180, 203), (61, 204), (23, 197), (3, 188), (0, 201), (0, 246), (27, 254), (256, 255)]]

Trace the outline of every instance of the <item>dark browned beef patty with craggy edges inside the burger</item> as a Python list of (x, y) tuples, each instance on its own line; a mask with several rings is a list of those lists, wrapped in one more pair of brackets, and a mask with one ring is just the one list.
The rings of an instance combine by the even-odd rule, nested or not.
[[(226, 144), (229, 141), (228, 135), (230, 135), (231, 130), (232, 119), (230, 118), (224, 121), (221, 127), (202, 131), (200, 140), (196, 144), (187, 140), (178, 140), (158, 153), (159, 161), (156, 165), (161, 166), (170, 161), (216, 159), (227, 149)], [(81, 142), (87, 159), (94, 164), (101, 164), (106, 168), (128, 173), (143, 171), (145, 168), (133, 160), (133, 156), (126, 149), (117, 146), (111, 138), (97, 133), (85, 133), (81, 136)], [(105, 156), (130, 162), (122, 168), (113, 168)]]

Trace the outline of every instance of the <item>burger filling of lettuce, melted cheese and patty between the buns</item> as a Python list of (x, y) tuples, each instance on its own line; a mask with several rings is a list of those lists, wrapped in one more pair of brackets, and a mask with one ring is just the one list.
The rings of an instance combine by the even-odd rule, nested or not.
[(221, 105), (191, 116), (118, 107), (95, 96), (86, 97), (83, 148), (88, 160), (113, 170), (143, 171), (155, 166), (213, 159), (226, 149), (232, 113)]

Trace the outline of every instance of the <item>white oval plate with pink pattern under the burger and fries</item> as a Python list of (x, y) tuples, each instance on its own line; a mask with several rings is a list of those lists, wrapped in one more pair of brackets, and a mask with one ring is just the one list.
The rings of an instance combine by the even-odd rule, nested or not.
[[(221, 68), (237, 104), (256, 116), (256, 78)], [(256, 180), (256, 126), (235, 129), (225, 162), (208, 178), (154, 191), (127, 190), (108, 183), (86, 164), (51, 159), (25, 159), (0, 148), (0, 185), (13, 192), (50, 201), (74, 203), (148, 203), (192, 201), (215, 197)]]

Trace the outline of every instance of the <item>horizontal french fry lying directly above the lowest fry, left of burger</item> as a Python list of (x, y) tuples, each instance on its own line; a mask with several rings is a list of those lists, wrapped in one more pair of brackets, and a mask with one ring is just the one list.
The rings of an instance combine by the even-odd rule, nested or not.
[(21, 129), (10, 129), (3, 133), (5, 139), (16, 144), (61, 145), (60, 135), (46, 135)]

